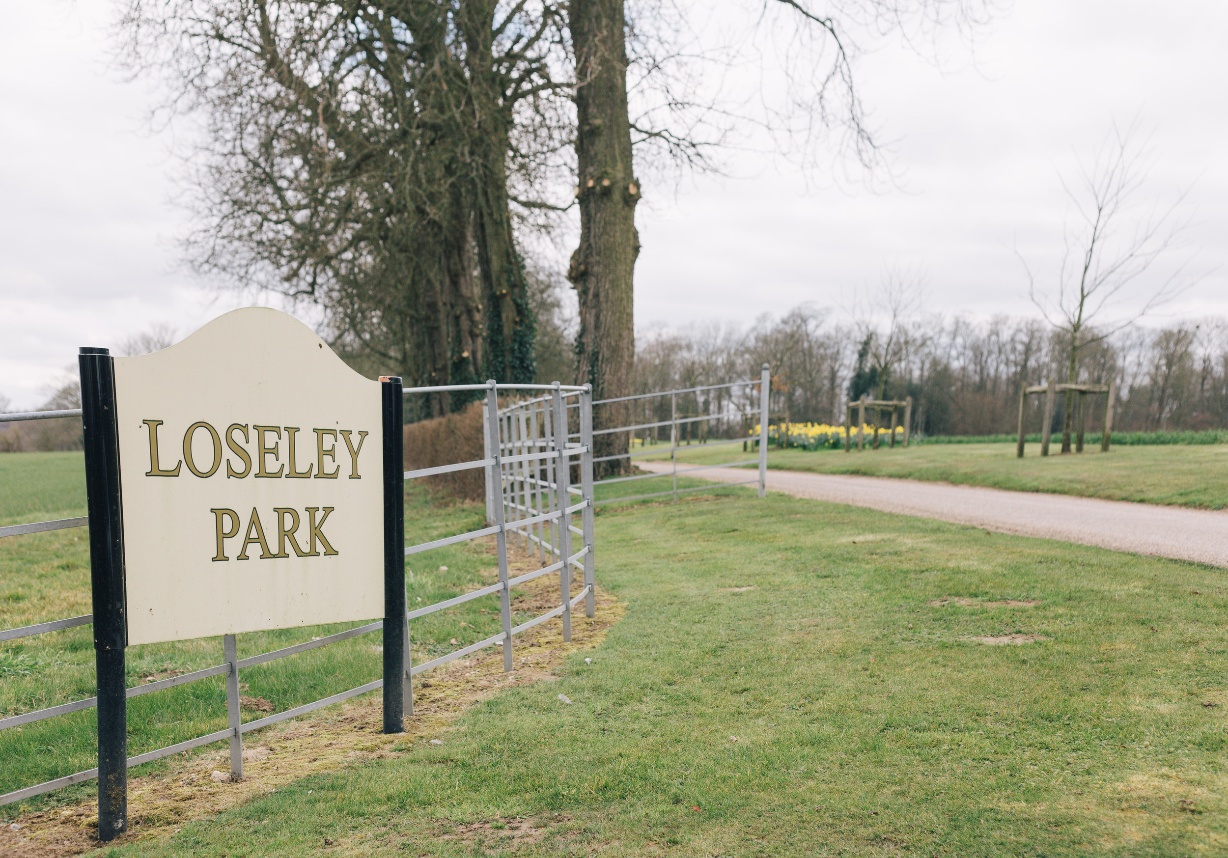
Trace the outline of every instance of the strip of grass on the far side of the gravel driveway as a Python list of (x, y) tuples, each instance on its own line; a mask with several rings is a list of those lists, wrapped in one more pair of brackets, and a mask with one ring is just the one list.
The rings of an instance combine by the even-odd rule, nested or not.
[[(1228, 507), (1228, 444), (1115, 447), (1041, 458), (1039, 446), (1023, 459), (1014, 444), (921, 444), (909, 449), (768, 452), (768, 466), (817, 474), (861, 474), (957, 482), (1014, 491), (1104, 497), (1205, 509)], [(648, 455), (646, 459), (666, 458)], [(679, 453), (679, 463), (716, 464), (753, 458), (738, 444)], [(679, 468), (684, 465), (679, 464)]]

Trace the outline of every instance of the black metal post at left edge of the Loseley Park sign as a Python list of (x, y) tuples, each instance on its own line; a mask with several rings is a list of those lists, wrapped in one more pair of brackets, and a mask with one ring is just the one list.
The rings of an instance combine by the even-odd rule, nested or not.
[(90, 578), (98, 674), (98, 840), (128, 830), (128, 700), (124, 647), (124, 528), (119, 491), (114, 363), (106, 349), (81, 349), (81, 425), (90, 507)]

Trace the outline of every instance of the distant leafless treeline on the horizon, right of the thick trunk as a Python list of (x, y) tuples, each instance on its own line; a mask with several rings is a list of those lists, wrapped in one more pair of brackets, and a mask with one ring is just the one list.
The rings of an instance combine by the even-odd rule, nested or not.
[[(1013, 439), (1019, 388), (1065, 382), (1068, 354), (1065, 338), (1040, 319), (925, 317), (876, 327), (837, 324), (802, 307), (781, 319), (761, 318), (749, 330), (712, 325), (641, 334), (636, 376), (640, 392), (698, 387), (756, 378), (766, 362), (774, 421), (841, 423), (844, 403), (869, 393), (912, 396), (912, 431), (920, 436)], [(1228, 427), (1228, 323), (1136, 327), (1084, 346), (1077, 381), (1110, 379), (1119, 385), (1117, 443), (1218, 443), (1222, 433), (1203, 441), (1185, 433)], [(1027, 428), (1036, 433), (1044, 396), (1028, 400)], [(1057, 396), (1055, 432), (1062, 409)], [(1104, 396), (1094, 396), (1087, 431), (1097, 433), (1097, 443), (1103, 419)], [(1127, 439), (1125, 433), (1135, 432), (1152, 439)]]

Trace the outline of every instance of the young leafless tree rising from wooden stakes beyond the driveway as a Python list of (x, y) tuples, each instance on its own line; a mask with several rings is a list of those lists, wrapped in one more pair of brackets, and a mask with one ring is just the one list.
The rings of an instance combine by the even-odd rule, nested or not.
[[(1028, 276), (1028, 297), (1045, 320), (1068, 339), (1066, 382), (1078, 381), (1079, 354), (1133, 324), (1192, 285), (1185, 276), (1189, 259), (1148, 285), (1142, 302), (1125, 307), (1129, 287), (1152, 271), (1162, 257), (1176, 249), (1189, 217), (1181, 209), (1187, 190), (1165, 206), (1140, 210), (1140, 196), (1151, 174), (1151, 153), (1138, 142), (1137, 120), (1121, 129), (1114, 124), (1092, 162), (1079, 162), (1062, 188), (1073, 214), (1063, 230), (1066, 252), (1056, 282), (1038, 287), (1032, 269), (1020, 255)], [(1071, 452), (1074, 392), (1066, 392), (1062, 453)]]

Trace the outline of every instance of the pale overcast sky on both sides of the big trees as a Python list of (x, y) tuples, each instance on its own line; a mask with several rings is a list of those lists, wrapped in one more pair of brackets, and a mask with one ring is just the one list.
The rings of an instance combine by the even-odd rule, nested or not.
[[(160, 322), (184, 335), (244, 303), (179, 265), (173, 141), (147, 130), (150, 90), (107, 66), (112, 14), (111, 0), (17, 4), (0, 31), (0, 395), (14, 409), (39, 405), (77, 346)], [(747, 324), (804, 302), (839, 314), (892, 268), (923, 275), (930, 311), (1032, 314), (1016, 249), (1052, 272), (1059, 171), (1136, 117), (1154, 150), (1144, 194), (1192, 188), (1185, 243), (1208, 272), (1152, 324), (1228, 315), (1226, 36), (1213, 0), (1028, 0), (979, 36), (975, 63), (958, 42), (942, 68), (880, 43), (858, 75), (896, 141), (895, 187), (818, 187), (747, 153), (732, 178), (645, 188), (636, 328)]]

